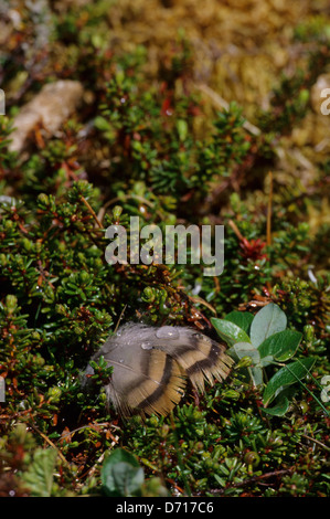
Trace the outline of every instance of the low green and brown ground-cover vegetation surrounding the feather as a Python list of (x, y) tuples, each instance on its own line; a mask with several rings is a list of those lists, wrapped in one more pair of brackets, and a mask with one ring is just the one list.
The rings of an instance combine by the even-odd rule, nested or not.
[[(0, 3), (1, 496), (329, 496), (330, 21), (309, 3)], [(77, 106), (21, 138), (67, 80)], [(224, 225), (223, 273), (109, 265), (130, 216)], [(123, 420), (111, 369), (93, 392), (82, 373), (130, 320), (217, 339), (230, 377)]]

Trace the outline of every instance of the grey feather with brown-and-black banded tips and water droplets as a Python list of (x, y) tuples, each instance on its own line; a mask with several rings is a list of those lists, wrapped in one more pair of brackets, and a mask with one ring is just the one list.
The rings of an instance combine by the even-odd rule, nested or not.
[[(114, 367), (108, 400), (124, 416), (167, 415), (182, 399), (187, 380), (200, 391), (224, 380), (233, 360), (225, 347), (188, 327), (128, 324), (94, 354)], [(91, 367), (86, 373), (92, 373)]]

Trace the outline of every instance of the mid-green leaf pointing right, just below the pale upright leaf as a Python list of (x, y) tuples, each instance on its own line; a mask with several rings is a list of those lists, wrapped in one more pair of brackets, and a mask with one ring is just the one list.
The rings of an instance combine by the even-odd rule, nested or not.
[[(270, 357), (284, 362), (296, 353), (302, 335), (295, 330), (283, 330), (273, 333), (259, 345), (260, 358)], [(267, 366), (267, 363), (263, 363), (263, 366)]]

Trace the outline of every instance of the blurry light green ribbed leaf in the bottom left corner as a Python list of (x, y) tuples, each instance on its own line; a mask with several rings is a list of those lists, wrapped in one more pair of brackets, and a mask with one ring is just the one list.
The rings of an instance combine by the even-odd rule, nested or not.
[(33, 497), (50, 497), (57, 453), (54, 448), (38, 448), (22, 479)]

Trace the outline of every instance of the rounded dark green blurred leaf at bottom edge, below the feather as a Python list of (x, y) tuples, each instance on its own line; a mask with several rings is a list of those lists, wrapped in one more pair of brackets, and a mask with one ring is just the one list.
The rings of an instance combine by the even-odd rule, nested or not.
[(117, 448), (104, 462), (100, 478), (107, 496), (129, 497), (140, 494), (145, 474), (135, 456), (123, 448)]

